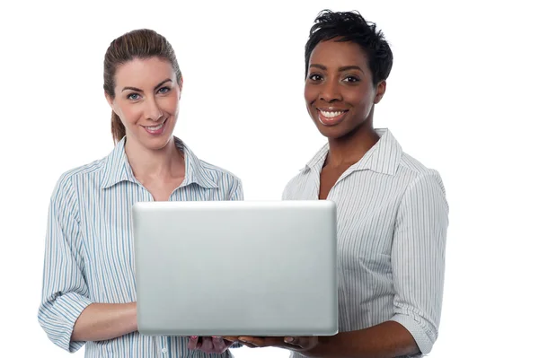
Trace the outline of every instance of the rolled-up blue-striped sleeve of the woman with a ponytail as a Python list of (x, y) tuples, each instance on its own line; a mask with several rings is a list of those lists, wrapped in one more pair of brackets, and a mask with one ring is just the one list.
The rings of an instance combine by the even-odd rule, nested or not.
[(38, 320), (49, 339), (71, 353), (85, 343), (71, 342), (71, 335), (76, 319), (92, 303), (84, 279), (77, 213), (72, 179), (65, 174), (50, 199)]

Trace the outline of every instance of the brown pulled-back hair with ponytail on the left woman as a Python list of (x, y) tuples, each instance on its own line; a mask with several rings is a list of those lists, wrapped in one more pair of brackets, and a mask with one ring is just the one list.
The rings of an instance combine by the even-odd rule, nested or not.
[[(103, 89), (111, 99), (114, 99), (114, 75), (119, 65), (123, 65), (134, 58), (159, 57), (168, 60), (174, 72), (176, 80), (181, 83), (181, 71), (172, 45), (162, 35), (153, 30), (130, 31), (118, 39), (110, 42), (105, 53), (103, 68)], [(110, 129), (114, 143), (118, 143), (126, 135), (126, 127), (118, 115), (112, 111)]]

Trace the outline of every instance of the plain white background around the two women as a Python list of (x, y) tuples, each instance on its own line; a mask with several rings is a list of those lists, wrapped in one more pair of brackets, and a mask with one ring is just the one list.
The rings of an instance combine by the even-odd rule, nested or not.
[[(278, 199), (324, 143), (305, 110), (303, 51), (314, 17), (329, 7), (359, 10), (384, 31), (394, 65), (376, 127), (389, 127), (446, 185), (446, 292), (430, 356), (534, 356), (539, 27), (532, 5), (215, 3), (2, 5), (0, 355), (67, 356), (37, 321), (46, 216), (59, 175), (112, 149), (102, 91), (110, 41), (143, 27), (167, 37), (184, 74), (175, 135), (243, 179), (245, 199)], [(287, 356), (270, 348), (235, 354)]]

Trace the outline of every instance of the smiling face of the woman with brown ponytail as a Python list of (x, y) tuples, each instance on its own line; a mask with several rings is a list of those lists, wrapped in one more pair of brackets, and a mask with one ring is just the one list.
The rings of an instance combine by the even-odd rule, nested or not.
[(116, 71), (110, 107), (126, 127), (128, 142), (162, 149), (172, 138), (178, 117), (181, 83), (169, 61), (135, 58)]

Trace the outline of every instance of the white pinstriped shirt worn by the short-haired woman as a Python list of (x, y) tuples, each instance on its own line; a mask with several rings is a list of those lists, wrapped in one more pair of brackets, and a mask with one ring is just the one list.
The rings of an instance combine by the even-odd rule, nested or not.
[[(437, 170), (403, 153), (387, 129), (337, 180), (339, 330), (393, 320), (428, 354), (440, 322), (448, 205)], [(316, 200), (328, 144), (291, 179), (285, 200)], [(300, 354), (291, 354), (299, 358)]]

